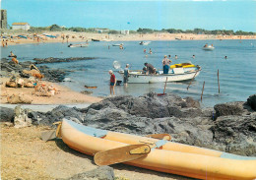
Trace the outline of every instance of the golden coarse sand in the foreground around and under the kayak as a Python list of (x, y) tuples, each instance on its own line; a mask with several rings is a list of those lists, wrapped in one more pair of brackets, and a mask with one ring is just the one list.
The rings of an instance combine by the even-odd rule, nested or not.
[[(14, 128), (1, 123), (1, 178), (47, 179), (68, 178), (95, 169), (92, 156), (71, 150), (62, 140), (43, 142), (41, 132), (47, 127)], [(111, 165), (122, 180), (189, 180), (173, 174), (160, 173), (125, 164)]]

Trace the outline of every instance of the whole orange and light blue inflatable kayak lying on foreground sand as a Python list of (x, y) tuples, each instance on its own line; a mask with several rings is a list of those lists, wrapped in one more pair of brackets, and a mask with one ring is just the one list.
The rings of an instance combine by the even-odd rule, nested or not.
[[(154, 138), (141, 137), (99, 130), (66, 119), (58, 125), (55, 133), (71, 149), (95, 155), (98, 165), (102, 165), (98, 162), (107, 162), (107, 157), (110, 156), (119, 162), (122, 159), (126, 164), (198, 179), (256, 178), (256, 157), (170, 142), (170, 136), (165, 136), (166, 134), (162, 137), (158, 134), (148, 136)], [(119, 153), (120, 150), (136, 146), (144, 146), (150, 150), (134, 149), (122, 154), (124, 156)], [(132, 157), (133, 155), (138, 156)], [(116, 162), (108, 162), (113, 163)]]

